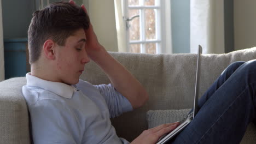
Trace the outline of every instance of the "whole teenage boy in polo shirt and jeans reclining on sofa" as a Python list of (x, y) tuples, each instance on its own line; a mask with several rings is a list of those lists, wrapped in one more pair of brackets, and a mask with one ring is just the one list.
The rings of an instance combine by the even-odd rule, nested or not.
[[(34, 143), (129, 143), (109, 118), (142, 106), (148, 94), (98, 43), (84, 5), (60, 2), (34, 12), (28, 47), (31, 73), (22, 92)], [(79, 80), (90, 59), (109, 85)], [(240, 143), (248, 123), (256, 122), (255, 73), (255, 60), (229, 65), (200, 98), (193, 121), (168, 143)], [(145, 130), (131, 143), (156, 143), (177, 125)]]

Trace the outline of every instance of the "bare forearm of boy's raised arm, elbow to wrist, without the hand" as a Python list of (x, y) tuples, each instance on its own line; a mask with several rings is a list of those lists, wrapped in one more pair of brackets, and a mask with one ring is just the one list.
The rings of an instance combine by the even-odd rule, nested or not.
[(133, 109), (146, 102), (148, 93), (141, 83), (103, 47), (91, 59), (103, 69), (115, 89), (130, 101)]

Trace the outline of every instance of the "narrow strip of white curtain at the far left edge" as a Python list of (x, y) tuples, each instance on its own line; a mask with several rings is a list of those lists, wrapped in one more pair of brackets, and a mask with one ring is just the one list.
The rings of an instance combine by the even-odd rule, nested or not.
[(3, 22), (2, 0), (0, 0), (0, 81), (4, 80), (4, 47), (3, 47)]

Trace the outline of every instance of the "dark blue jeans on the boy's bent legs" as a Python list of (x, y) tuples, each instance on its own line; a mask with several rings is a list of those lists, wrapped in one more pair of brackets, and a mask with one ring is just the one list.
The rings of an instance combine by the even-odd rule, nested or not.
[(255, 97), (256, 60), (232, 63), (202, 95), (193, 121), (168, 143), (240, 143), (255, 122)]

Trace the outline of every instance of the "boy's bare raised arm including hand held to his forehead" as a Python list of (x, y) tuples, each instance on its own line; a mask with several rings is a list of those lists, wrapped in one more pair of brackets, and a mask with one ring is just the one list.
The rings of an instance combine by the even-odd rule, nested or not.
[[(84, 5), (82, 8), (87, 13)], [(133, 109), (142, 106), (148, 100), (148, 93), (141, 83), (98, 43), (91, 23), (89, 28), (85, 29), (85, 35), (85, 49), (92, 61), (103, 69), (115, 89), (130, 101)]]

